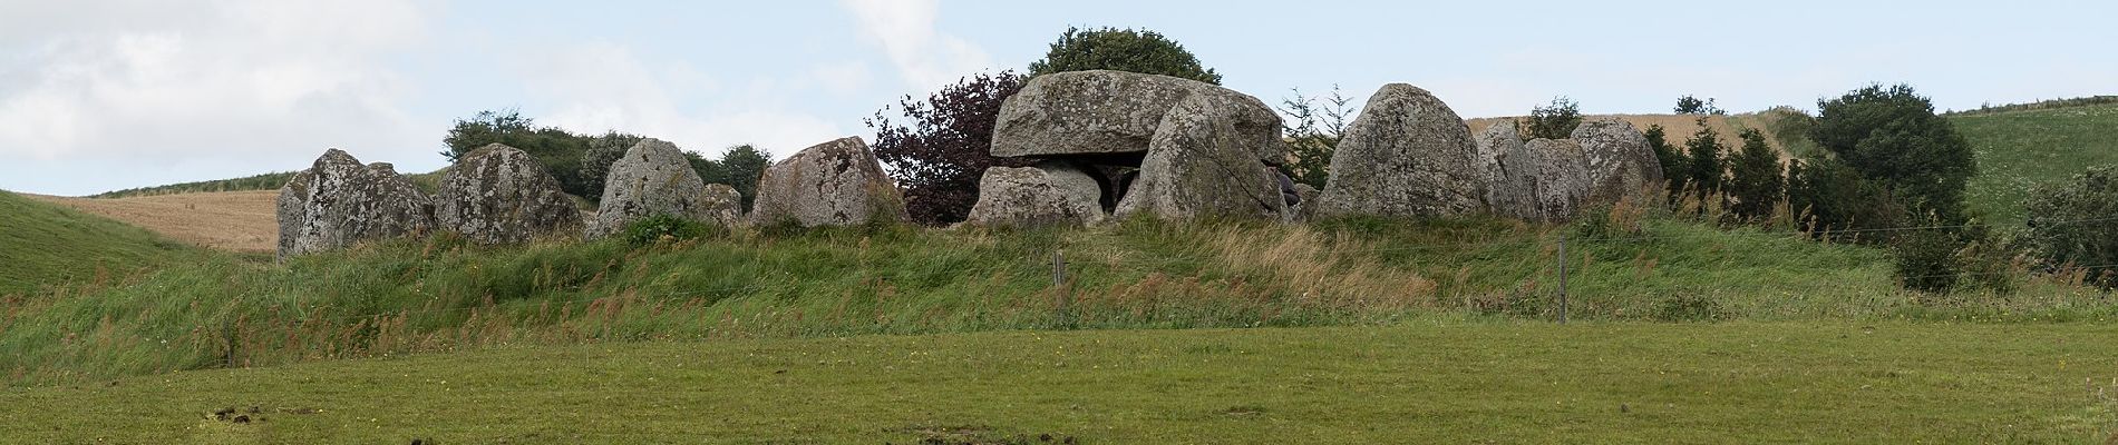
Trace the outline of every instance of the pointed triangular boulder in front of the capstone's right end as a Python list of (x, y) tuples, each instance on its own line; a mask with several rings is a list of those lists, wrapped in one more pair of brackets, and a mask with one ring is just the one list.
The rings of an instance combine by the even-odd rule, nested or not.
[(1228, 110), (1224, 99), (1207, 95), (1171, 108), (1114, 215), (1286, 219), (1277, 171), (1243, 143)]

